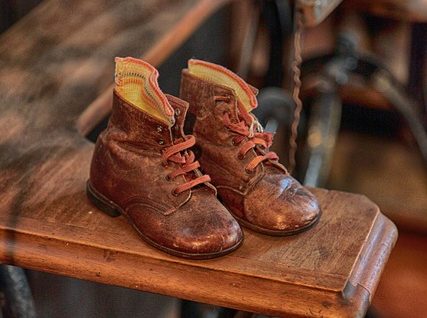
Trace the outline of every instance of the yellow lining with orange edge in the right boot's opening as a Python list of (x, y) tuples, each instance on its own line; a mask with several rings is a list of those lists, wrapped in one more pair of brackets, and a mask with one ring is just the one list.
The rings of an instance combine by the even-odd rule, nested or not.
[[(225, 67), (201, 60), (188, 61), (188, 71), (208, 82), (225, 86), (234, 91), (238, 100), (238, 111), (245, 120), (252, 120), (249, 113), (258, 106), (258, 90)], [(234, 117), (234, 116), (233, 116)]]

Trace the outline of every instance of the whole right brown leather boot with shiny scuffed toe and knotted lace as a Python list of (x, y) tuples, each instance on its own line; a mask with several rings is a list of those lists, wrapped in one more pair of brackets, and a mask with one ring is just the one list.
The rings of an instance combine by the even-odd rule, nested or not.
[(221, 202), (252, 230), (295, 234), (316, 223), (320, 208), (269, 151), (273, 136), (251, 114), (256, 94), (216, 64), (190, 60), (182, 73), (180, 97), (195, 116), (189, 130), (200, 148), (202, 170), (211, 176)]

